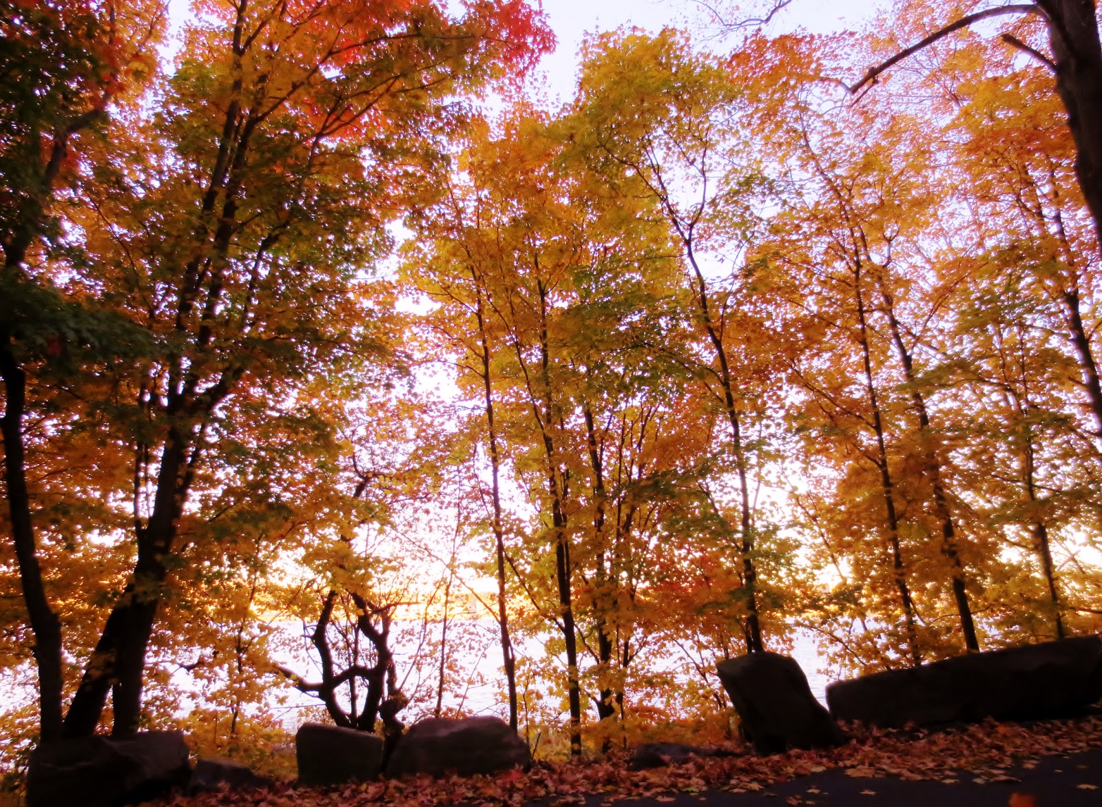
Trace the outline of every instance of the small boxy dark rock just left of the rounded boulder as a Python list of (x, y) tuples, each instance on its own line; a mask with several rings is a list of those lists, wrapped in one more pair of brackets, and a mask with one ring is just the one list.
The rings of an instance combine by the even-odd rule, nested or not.
[(300, 784), (370, 782), (382, 765), (382, 738), (355, 729), (305, 723), (294, 735), (294, 752)]

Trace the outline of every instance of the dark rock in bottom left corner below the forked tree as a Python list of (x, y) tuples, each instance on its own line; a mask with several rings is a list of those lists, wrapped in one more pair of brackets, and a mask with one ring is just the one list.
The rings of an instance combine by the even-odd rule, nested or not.
[(115, 807), (158, 798), (191, 776), (180, 731), (45, 743), (31, 754), (28, 807)]

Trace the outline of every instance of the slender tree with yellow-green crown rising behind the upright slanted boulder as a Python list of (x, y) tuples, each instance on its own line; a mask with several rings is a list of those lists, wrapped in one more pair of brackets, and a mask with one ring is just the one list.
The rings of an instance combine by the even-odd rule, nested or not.
[[(730, 456), (737, 478), (743, 628), (749, 653), (765, 649), (755, 567), (752, 474), (755, 446), (748, 438), (763, 418), (767, 391), (753, 363), (768, 351), (767, 329), (747, 329), (735, 346), (734, 332), (752, 318), (739, 295), (711, 277), (710, 250), (734, 251), (750, 239), (748, 213), (753, 172), (742, 162), (743, 142), (730, 133), (742, 93), (716, 60), (695, 55), (670, 31), (655, 37), (639, 33), (606, 35), (591, 43), (572, 120), (579, 148), (588, 152), (590, 170), (624, 195), (653, 201), (679, 244), (696, 305), (695, 325), (706, 358), (687, 355), (705, 369), (731, 430)], [(737, 279), (732, 278), (737, 289)], [(742, 348), (749, 348), (747, 354)], [(746, 365), (736, 364), (748, 355)]]

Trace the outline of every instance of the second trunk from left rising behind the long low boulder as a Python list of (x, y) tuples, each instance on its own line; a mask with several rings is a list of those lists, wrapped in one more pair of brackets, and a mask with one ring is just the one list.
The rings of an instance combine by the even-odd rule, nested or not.
[(941, 521), (941, 553), (949, 561), (953, 599), (957, 602), (957, 613), (960, 616), (964, 649), (968, 653), (979, 653), (980, 641), (976, 637), (975, 621), (972, 618), (972, 605), (969, 602), (968, 589), (965, 588), (964, 564), (961, 562), (960, 551), (957, 546), (957, 529), (953, 525), (952, 513), (949, 510), (949, 501), (941, 480), (941, 461), (938, 459), (937, 451), (933, 448), (930, 415), (926, 408), (926, 399), (922, 397), (922, 391), (918, 388), (918, 378), (915, 376), (915, 359), (907, 348), (907, 344), (904, 342), (903, 329), (899, 325), (899, 320), (896, 318), (895, 300), (884, 278), (880, 277), (878, 281), (880, 299), (884, 302), (884, 312), (892, 327), (892, 341), (895, 344), (896, 352), (899, 354), (904, 376), (907, 379), (907, 385), (910, 387), (911, 404), (918, 415), (918, 433), (922, 451), (922, 464), (933, 492), (934, 513)]

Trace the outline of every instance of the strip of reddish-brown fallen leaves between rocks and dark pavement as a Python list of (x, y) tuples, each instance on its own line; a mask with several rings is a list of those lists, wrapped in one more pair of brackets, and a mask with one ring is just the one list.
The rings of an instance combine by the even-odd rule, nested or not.
[(467, 804), (521, 807), (544, 800), (550, 807), (579, 805), (586, 796), (605, 801), (698, 794), (702, 790), (757, 792), (768, 785), (829, 768), (855, 777), (896, 777), (1013, 782), (1007, 770), (1035, 766), (1041, 757), (1102, 749), (1102, 718), (1074, 721), (1000, 723), (993, 720), (958, 729), (877, 730), (846, 727), (849, 742), (829, 751), (789, 751), (755, 756), (738, 743), (726, 756), (690, 757), (667, 767), (630, 770), (629, 753), (613, 752), (583, 762), (540, 762), (528, 772), (491, 776), (428, 776), (385, 779), (329, 788), (280, 782), (260, 790), (176, 795), (161, 807), (447, 807)]

